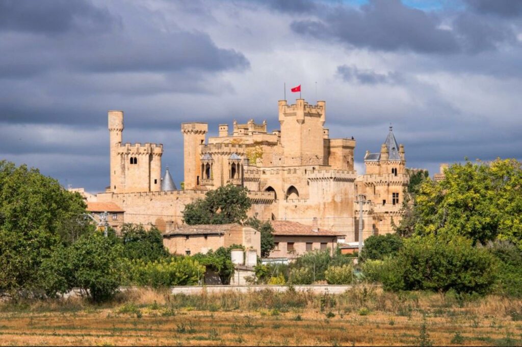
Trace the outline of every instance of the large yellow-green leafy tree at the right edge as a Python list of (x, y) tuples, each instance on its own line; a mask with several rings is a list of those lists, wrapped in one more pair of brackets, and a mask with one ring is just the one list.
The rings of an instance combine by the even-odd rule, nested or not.
[(415, 232), (461, 235), (482, 244), (498, 238), (522, 249), (521, 187), (522, 168), (515, 159), (452, 165), (440, 183), (421, 184)]

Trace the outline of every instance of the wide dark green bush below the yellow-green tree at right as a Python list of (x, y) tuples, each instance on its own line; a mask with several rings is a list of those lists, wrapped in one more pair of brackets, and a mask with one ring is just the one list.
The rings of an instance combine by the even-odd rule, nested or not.
[(434, 290), (485, 294), (495, 283), (497, 262), (483, 247), (455, 237), (411, 238), (397, 257), (384, 263), (383, 284), (388, 290)]

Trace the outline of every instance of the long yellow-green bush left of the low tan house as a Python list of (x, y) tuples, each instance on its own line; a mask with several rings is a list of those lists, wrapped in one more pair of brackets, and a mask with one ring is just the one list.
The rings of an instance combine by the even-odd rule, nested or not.
[(156, 262), (131, 262), (131, 282), (153, 288), (194, 286), (205, 275), (205, 266), (190, 257), (172, 257)]

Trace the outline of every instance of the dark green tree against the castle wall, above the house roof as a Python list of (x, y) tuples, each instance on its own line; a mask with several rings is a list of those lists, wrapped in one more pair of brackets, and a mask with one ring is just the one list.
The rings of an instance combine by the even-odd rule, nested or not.
[(188, 225), (241, 223), (252, 205), (247, 193), (232, 184), (211, 190), (205, 199), (185, 205), (183, 220)]

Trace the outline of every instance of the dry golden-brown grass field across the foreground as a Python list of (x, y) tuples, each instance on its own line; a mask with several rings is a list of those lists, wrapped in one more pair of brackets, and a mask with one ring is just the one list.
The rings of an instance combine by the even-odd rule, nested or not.
[(2, 345), (520, 345), (522, 302), (497, 296), (294, 292), (120, 294), (0, 305)]

